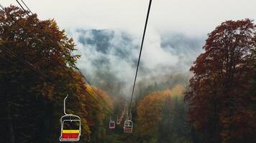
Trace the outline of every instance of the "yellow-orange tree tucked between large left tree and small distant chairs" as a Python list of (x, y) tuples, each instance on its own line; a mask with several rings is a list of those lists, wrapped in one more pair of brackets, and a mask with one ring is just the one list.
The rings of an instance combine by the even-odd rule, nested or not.
[(112, 116), (114, 102), (109, 94), (96, 87), (86, 85), (86, 92), (86, 119), (91, 129), (91, 142), (108, 142), (106, 132), (109, 129), (109, 118)]

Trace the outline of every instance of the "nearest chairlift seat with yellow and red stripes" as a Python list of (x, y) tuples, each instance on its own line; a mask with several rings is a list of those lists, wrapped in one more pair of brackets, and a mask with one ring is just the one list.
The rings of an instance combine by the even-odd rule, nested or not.
[(80, 117), (67, 114), (61, 117), (60, 142), (77, 142), (81, 136), (81, 119)]

